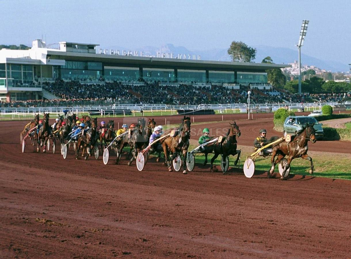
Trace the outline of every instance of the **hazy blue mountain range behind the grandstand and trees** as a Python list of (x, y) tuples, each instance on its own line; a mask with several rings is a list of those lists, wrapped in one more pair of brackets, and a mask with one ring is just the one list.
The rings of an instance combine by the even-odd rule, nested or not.
[[(288, 64), (293, 63), (295, 60), (298, 60), (298, 50), (290, 49), (290, 48), (278, 48), (278, 47), (271, 47), (271, 46), (252, 46), (257, 49), (256, 59), (254, 62), (260, 63), (265, 57), (270, 56), (274, 63), (276, 64)], [(186, 55), (200, 55), (201, 60), (220, 60), (220, 61), (231, 61), (227, 49), (210, 49), (206, 51), (191, 51), (183, 46), (174, 46), (173, 44), (166, 44), (161, 47), (140, 47), (138, 49), (128, 49), (123, 47), (117, 46), (110, 46), (106, 47), (107, 49), (119, 49), (120, 53), (122, 50), (125, 51), (140, 51), (143, 52), (143, 56), (157, 56), (157, 53), (173, 53), (173, 57), (178, 57), (178, 54), (182, 56)], [(140, 54), (139, 54), (140, 55)], [(347, 64), (342, 64), (337, 61), (331, 60), (321, 60), (318, 58), (314, 58), (308, 55), (301, 53), (301, 62), (302, 65), (313, 65), (319, 67), (320, 69), (326, 69), (327, 71), (332, 72), (347, 72), (349, 71), (349, 66)]]

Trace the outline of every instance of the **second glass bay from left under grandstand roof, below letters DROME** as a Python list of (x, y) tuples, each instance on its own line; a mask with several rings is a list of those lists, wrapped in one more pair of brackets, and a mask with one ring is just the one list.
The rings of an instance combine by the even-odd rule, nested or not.
[(137, 81), (140, 77), (138, 67), (104, 67), (107, 81)]

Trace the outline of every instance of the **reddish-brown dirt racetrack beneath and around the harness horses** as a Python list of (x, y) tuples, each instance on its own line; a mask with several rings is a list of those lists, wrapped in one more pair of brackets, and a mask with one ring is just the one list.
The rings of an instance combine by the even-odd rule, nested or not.
[[(225, 115), (252, 145), (272, 114)], [(155, 117), (157, 124), (165, 118)], [(179, 116), (167, 117), (171, 124)], [(221, 115), (195, 116), (195, 122)], [(100, 121), (100, 120), (99, 120)], [(123, 118), (115, 122), (127, 122)], [(24, 121), (0, 122), (0, 257), (349, 257), (351, 181), (247, 179), (195, 166), (183, 175), (153, 159), (142, 172), (60, 153), (21, 153)], [(228, 122), (206, 124), (213, 132)], [(192, 141), (204, 125), (192, 126)], [(214, 134), (214, 133), (213, 133)], [(346, 141), (310, 150), (350, 153)]]

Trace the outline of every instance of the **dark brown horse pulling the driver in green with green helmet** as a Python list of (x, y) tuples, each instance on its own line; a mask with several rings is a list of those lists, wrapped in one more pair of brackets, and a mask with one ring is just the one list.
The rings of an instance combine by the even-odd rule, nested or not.
[[(241, 132), (239, 130), (239, 126), (237, 125), (237, 123), (235, 121), (234, 121), (234, 123), (229, 123), (229, 124), (231, 127), (228, 130), (226, 136), (223, 137), (224, 138), (223, 142), (215, 143), (213, 145), (214, 155), (211, 158), (211, 169), (210, 169), (211, 172), (213, 171), (213, 162), (218, 157), (219, 154), (223, 155), (224, 162), (226, 161), (227, 156), (238, 155), (237, 160), (235, 160), (235, 162), (234, 162), (234, 165), (237, 165), (238, 161), (240, 159), (240, 150), (237, 150), (238, 141), (237, 141), (236, 137), (240, 137)], [(207, 156), (206, 156), (205, 162), (207, 162)]]

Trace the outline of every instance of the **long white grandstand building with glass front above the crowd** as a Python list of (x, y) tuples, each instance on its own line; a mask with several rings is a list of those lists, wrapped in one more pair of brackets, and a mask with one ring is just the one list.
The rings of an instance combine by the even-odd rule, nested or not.
[(34, 40), (28, 50), (0, 50), (0, 100), (53, 99), (42, 89), (43, 82), (55, 80), (101, 84), (119, 81), (142, 85), (165, 84), (223, 85), (239, 89), (240, 84), (267, 85), (267, 69), (289, 67), (280, 64), (188, 60), (98, 54), (98, 44), (59, 42), (46, 46)]

